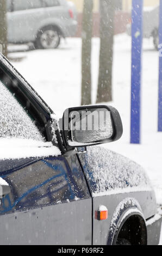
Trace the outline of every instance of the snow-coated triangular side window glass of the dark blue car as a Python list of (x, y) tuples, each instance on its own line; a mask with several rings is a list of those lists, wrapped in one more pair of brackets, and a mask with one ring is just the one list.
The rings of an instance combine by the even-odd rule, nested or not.
[(43, 141), (43, 137), (22, 106), (0, 81), (0, 137)]

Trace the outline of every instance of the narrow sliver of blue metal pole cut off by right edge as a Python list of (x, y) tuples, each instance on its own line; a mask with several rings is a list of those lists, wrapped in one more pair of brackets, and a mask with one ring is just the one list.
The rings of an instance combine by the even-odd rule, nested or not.
[[(160, 0), (160, 14), (159, 14), (159, 44), (162, 44), (162, 0)], [(161, 47), (162, 47), (162, 45), (161, 45)], [(162, 132), (162, 56), (161, 56), (161, 54), (159, 54), (158, 131)]]

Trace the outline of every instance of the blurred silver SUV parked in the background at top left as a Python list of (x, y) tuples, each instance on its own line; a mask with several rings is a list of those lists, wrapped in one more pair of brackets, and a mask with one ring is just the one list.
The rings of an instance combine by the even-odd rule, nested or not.
[(75, 5), (66, 0), (7, 0), (7, 10), (9, 43), (57, 48), (77, 30)]

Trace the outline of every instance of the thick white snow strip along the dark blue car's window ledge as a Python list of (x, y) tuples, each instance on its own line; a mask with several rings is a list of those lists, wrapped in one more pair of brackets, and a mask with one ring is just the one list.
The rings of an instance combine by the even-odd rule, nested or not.
[(32, 139), (0, 138), (0, 159), (24, 159), (27, 157), (47, 157), (61, 155), (51, 142)]

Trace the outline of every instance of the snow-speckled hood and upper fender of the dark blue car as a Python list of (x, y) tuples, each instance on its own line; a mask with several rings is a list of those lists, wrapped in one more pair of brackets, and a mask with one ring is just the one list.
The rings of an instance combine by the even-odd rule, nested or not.
[(92, 195), (151, 191), (151, 183), (139, 164), (102, 147), (89, 147), (80, 154)]

